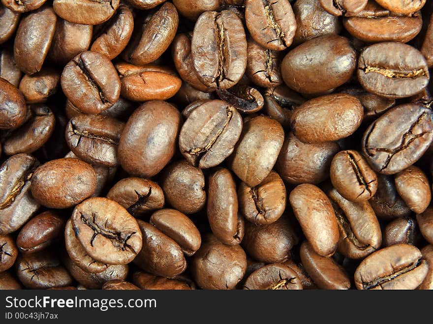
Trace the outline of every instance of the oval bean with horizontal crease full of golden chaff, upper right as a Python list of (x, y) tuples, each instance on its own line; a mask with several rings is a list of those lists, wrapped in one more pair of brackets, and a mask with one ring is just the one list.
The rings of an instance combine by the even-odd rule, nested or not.
[(406, 44), (373, 44), (359, 56), (359, 82), (367, 91), (382, 97), (410, 97), (425, 88), (429, 78), (426, 59)]

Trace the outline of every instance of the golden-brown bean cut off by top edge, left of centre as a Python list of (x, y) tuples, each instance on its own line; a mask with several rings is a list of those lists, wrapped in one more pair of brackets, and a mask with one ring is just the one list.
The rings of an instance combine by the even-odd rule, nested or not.
[(74, 24), (98, 25), (114, 15), (119, 0), (54, 0), (56, 14)]

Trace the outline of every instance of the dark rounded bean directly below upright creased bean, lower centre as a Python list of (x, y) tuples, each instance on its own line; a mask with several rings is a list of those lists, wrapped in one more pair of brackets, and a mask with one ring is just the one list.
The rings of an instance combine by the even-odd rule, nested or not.
[(290, 258), (290, 250), (299, 242), (299, 236), (288, 215), (268, 225), (245, 223), (242, 246), (248, 255), (265, 263), (284, 262)]

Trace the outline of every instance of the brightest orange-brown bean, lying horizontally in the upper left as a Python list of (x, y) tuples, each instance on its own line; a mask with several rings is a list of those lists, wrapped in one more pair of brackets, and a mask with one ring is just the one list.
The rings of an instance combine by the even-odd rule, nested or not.
[(120, 74), (121, 95), (132, 101), (166, 100), (181, 88), (181, 79), (152, 64), (135, 66), (121, 62), (116, 68)]

